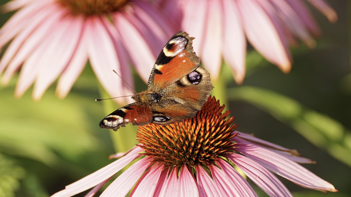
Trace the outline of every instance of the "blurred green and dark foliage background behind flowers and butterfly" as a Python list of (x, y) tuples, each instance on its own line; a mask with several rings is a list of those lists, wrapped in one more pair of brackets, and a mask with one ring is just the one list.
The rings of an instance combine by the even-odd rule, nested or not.
[[(324, 35), (315, 49), (293, 48), (291, 73), (283, 74), (250, 50), (244, 84), (236, 85), (223, 64), (212, 95), (236, 116), (240, 131), (296, 148), (317, 161), (305, 166), (340, 191), (328, 196), (343, 197), (351, 195), (351, 74), (345, 28), (350, 27), (349, 11), (343, 1), (329, 2), (339, 21), (329, 24), (320, 13), (313, 13)], [(0, 22), (10, 16), (3, 15)], [(138, 92), (146, 89), (136, 75), (135, 80)], [(63, 100), (54, 94), (56, 84), (40, 102), (31, 99), (31, 89), (17, 100), (16, 81), (17, 77), (0, 87), (0, 197), (47, 196), (110, 163), (109, 154), (137, 143), (136, 126), (117, 132), (98, 126), (120, 106), (113, 100), (94, 101), (109, 96), (90, 66)], [(281, 180), (295, 196), (325, 196)], [(266, 196), (260, 188), (255, 190)]]

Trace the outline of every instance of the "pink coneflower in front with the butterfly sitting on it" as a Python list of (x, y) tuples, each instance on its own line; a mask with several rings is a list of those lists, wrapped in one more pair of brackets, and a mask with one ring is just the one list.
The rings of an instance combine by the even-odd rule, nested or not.
[[(241, 169), (270, 196), (292, 196), (276, 173), (306, 188), (337, 191), (298, 163), (313, 163), (290, 150), (236, 131), (229, 111), (209, 97), (195, 117), (138, 129), (139, 145), (52, 196), (71, 196), (95, 186), (93, 196), (131, 161), (101, 196), (257, 196)], [(121, 156), (121, 155), (119, 155)]]

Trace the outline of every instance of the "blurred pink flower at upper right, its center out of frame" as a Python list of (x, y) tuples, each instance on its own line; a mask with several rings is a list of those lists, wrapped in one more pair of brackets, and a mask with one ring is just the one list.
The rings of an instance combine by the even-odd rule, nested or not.
[[(337, 15), (323, 0), (308, 0), (330, 22)], [(295, 37), (308, 47), (320, 34), (302, 0), (160, 0), (162, 7), (195, 37), (193, 47), (202, 64), (217, 79), (222, 57), (237, 83), (245, 77), (247, 41), (283, 72), (291, 69), (289, 44)]]

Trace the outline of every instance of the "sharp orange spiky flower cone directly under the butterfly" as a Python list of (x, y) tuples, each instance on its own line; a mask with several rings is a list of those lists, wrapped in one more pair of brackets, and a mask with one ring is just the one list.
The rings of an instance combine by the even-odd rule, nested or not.
[(137, 139), (153, 162), (167, 167), (195, 164), (209, 166), (219, 156), (232, 152), (232, 138), (237, 125), (230, 111), (221, 113), (224, 105), (209, 97), (196, 116), (169, 125), (147, 124), (139, 126)]

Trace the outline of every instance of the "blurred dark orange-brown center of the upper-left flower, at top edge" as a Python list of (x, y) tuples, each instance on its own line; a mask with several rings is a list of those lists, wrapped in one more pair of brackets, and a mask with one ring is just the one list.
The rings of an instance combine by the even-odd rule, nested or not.
[(120, 10), (128, 0), (59, 0), (73, 15), (102, 15)]

